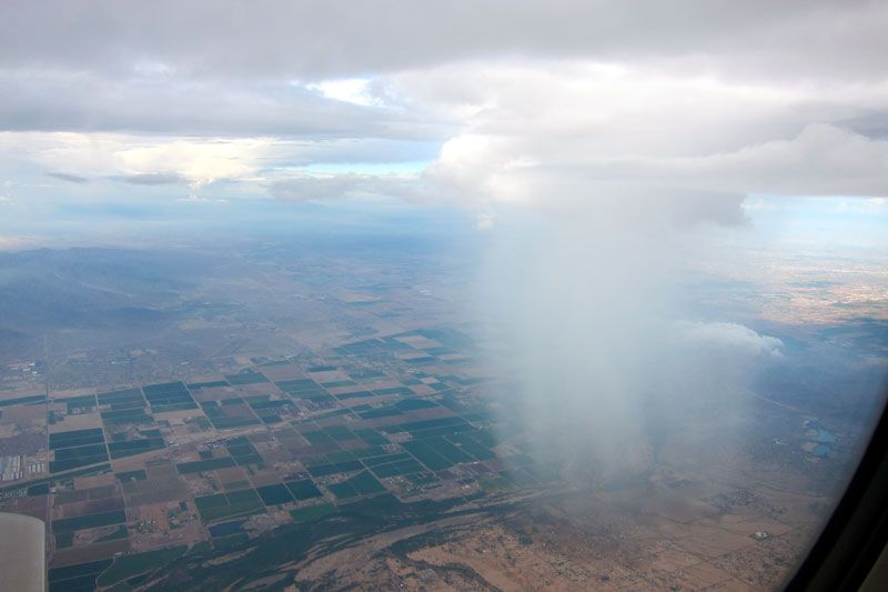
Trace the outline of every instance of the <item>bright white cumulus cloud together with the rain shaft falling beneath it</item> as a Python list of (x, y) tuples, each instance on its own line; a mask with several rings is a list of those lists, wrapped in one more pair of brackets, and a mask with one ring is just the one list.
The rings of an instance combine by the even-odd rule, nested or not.
[[(673, 279), (709, 248), (699, 227), (745, 223), (755, 193), (888, 191), (888, 143), (847, 124), (884, 106), (881, 83), (588, 62), (464, 62), (392, 83), (466, 122), (420, 194), (476, 208), (486, 225), (514, 208), (544, 220), (494, 239), (480, 310), (501, 348), (491, 361), (514, 379), (504, 415), (539, 441), (562, 434), (537, 452), (579, 481), (644, 474), (664, 433), (743, 418), (758, 372), (785, 362), (776, 338), (675, 305)], [(735, 435), (726, 428), (725, 445)]]

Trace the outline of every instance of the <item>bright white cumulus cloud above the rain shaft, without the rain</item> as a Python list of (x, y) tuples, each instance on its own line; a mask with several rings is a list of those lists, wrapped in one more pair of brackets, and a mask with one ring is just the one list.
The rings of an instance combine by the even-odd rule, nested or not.
[(463, 198), (636, 210), (674, 198), (692, 217), (688, 203), (727, 220), (736, 215), (695, 195), (888, 191), (888, 142), (847, 123), (888, 107), (886, 81), (750, 86), (585, 62), (461, 64), (395, 80), (451, 116), (468, 112), (470, 130), (424, 179)]

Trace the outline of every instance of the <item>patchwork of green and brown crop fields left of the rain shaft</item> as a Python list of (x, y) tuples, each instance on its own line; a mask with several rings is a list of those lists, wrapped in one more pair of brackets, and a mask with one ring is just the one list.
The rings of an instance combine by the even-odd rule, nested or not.
[[(478, 369), (392, 354), (414, 351), (413, 337), (454, 351), (428, 335), (345, 344), (311, 363), (9, 399), (44, 409), (36, 456), (49, 474), (4, 491), (49, 522), (50, 589), (135, 583), (189, 548), (245, 544), (379, 495), (483, 496), (476, 476), (507, 480), (517, 451), (497, 450), (485, 403), (465, 387)], [(354, 353), (374, 348), (375, 365)]]

